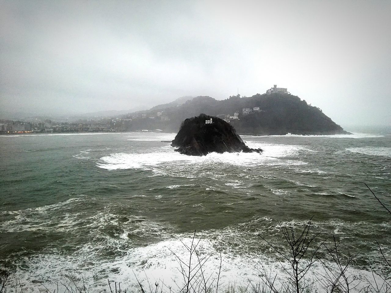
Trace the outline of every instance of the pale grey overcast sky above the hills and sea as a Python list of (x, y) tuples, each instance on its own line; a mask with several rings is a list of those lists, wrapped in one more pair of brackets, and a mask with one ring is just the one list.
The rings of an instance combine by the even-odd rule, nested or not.
[[(0, 108), (148, 109), (277, 84), (336, 123), (391, 125), (391, 1), (0, 0)], [(1, 118), (1, 117), (0, 117)]]

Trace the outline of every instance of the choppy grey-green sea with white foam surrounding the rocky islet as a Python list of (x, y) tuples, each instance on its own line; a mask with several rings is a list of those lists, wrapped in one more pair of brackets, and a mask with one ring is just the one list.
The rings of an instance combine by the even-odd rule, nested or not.
[[(120, 283), (140, 292), (140, 282), (146, 292), (178, 292), (189, 263), (202, 263), (219, 290), (265, 276), (287, 284), (282, 229), (298, 237), (309, 221), (315, 238), (303, 264), (317, 247), (319, 254), (336, 243), (343, 265), (357, 254), (346, 270), (354, 290), (391, 283), (379, 250), (391, 259), (391, 214), (377, 200), (391, 210), (391, 129), (241, 136), (264, 152), (202, 157), (175, 152), (167, 142), (175, 135), (0, 136), (0, 265), (10, 273), (8, 291), (83, 284), (110, 292), (109, 281), (113, 291)], [(327, 268), (338, 271), (331, 255), (308, 270), (312, 291), (326, 292)]]

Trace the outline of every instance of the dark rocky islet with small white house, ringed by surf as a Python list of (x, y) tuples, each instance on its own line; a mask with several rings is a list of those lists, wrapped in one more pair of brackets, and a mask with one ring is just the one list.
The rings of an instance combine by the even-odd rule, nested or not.
[(185, 155), (206, 155), (211, 152), (263, 152), (249, 148), (228, 122), (213, 116), (200, 114), (182, 122), (172, 141), (175, 151)]

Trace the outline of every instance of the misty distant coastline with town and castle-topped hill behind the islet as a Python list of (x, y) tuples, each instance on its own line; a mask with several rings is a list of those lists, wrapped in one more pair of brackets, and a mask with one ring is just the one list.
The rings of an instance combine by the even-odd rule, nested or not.
[(210, 96), (185, 96), (149, 110), (97, 118), (96, 121), (0, 121), (0, 133), (178, 132), (183, 120), (200, 113), (221, 118), (230, 123), (238, 134), (350, 134), (321, 109), (308, 105), (305, 100), (289, 93), (287, 88), (278, 88), (276, 84), (264, 94), (257, 93), (251, 97), (238, 94), (226, 100), (215, 100)]

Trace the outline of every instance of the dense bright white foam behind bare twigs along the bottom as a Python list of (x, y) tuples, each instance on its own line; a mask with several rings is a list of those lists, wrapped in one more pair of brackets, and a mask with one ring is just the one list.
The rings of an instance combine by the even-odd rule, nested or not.
[[(126, 241), (126, 236), (121, 238)], [(109, 244), (109, 243), (108, 243)], [(60, 280), (64, 284), (70, 282), (69, 276), (76, 279), (76, 283), (81, 282), (83, 277), (86, 288), (94, 291), (108, 291), (107, 279), (113, 282), (120, 282), (122, 289), (128, 288), (130, 291), (139, 291), (136, 277), (147, 291), (155, 290), (155, 282), (158, 282), (159, 290), (163, 292), (178, 292), (183, 286), (183, 275), (180, 272), (180, 260), (187, 264), (190, 255), (185, 247), (191, 247), (192, 239), (184, 235), (176, 236), (174, 239), (159, 241), (143, 247), (131, 248), (123, 251), (119, 256), (109, 260), (99, 260), (96, 247), (86, 245), (67, 257), (61, 252), (52, 254), (41, 254), (27, 263), (27, 266), (18, 269), (16, 277), (26, 292), (38, 291), (39, 284), (32, 284), (32, 280), (41, 280), (50, 291), (56, 288), (55, 280)], [(226, 290), (229, 286), (247, 286), (249, 282), (257, 284), (262, 282), (262, 275), (277, 275), (275, 285), (277, 288), (281, 284), (286, 284), (288, 275), (280, 264), (262, 254), (233, 254), (231, 252), (220, 252), (215, 247), (213, 241), (209, 239), (195, 238), (193, 245), (197, 245), (197, 255), (200, 260), (206, 260), (203, 264), (205, 278), (210, 284), (216, 286), (217, 277), (221, 263), (219, 286), (221, 290)], [(115, 246), (113, 247), (115, 249)], [(198, 265), (197, 255), (192, 256), (192, 266)], [(182, 264), (182, 266), (184, 266)], [(290, 270), (288, 263), (282, 266)], [(308, 274), (306, 281), (314, 281), (314, 291), (325, 292), (321, 281), (325, 281), (326, 269), (337, 271), (337, 266), (333, 263), (315, 263)], [(192, 271), (198, 277), (201, 272), (195, 269)], [(351, 285), (351, 292), (359, 292), (360, 289), (374, 283), (382, 284), (384, 281), (377, 274), (365, 270), (357, 270), (352, 267), (346, 271), (346, 276), (354, 280)], [(194, 281), (198, 278), (195, 277)], [(319, 281), (320, 280), (320, 281)], [(80, 283), (79, 283), (80, 284)], [(164, 284), (164, 285), (163, 285)], [(357, 285), (354, 288), (354, 285)], [(113, 286), (113, 284), (112, 284)], [(151, 289), (149, 288), (151, 286)], [(169, 290), (172, 288), (172, 290)], [(63, 288), (61, 288), (63, 289)]]

